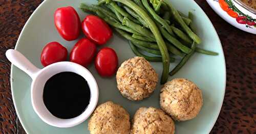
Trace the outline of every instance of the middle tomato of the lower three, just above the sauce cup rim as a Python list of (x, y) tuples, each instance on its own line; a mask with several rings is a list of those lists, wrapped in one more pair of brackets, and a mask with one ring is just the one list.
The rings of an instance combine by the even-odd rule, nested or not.
[(71, 50), (70, 61), (86, 67), (92, 62), (95, 53), (96, 45), (88, 38), (82, 38)]

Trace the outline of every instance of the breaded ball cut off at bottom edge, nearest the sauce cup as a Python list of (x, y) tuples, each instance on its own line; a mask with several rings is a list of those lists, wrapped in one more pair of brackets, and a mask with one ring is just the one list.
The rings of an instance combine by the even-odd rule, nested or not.
[(91, 134), (129, 134), (130, 116), (121, 105), (108, 101), (96, 108), (88, 126)]

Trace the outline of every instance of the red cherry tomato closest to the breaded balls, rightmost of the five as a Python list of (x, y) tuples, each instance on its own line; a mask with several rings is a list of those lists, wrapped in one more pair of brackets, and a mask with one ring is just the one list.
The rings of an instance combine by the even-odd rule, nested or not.
[(109, 47), (99, 50), (95, 60), (95, 68), (101, 76), (112, 76), (116, 73), (117, 66), (118, 58), (115, 50)]

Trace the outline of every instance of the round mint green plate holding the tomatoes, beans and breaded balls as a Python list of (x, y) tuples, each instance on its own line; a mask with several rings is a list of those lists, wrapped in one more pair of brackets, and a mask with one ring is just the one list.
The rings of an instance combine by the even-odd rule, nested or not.
[[(54, 27), (53, 14), (59, 7), (73, 6), (78, 11), (82, 20), (87, 14), (78, 9), (81, 2), (86, 2), (88, 4), (97, 3), (96, 0), (44, 1), (27, 21), (18, 38), (15, 49), (22, 52), (39, 68), (42, 68), (40, 64), (41, 50), (48, 42), (58, 41), (62, 45), (65, 45), (70, 52), (77, 40), (68, 42), (59, 36)], [(225, 94), (226, 67), (221, 42), (214, 26), (212, 26), (203, 10), (194, 1), (172, 0), (172, 3), (183, 13), (187, 14), (188, 11), (194, 13), (197, 33), (202, 39), (200, 47), (217, 51), (220, 54), (219, 56), (206, 56), (196, 53), (174, 77), (169, 77), (169, 80), (175, 77), (184, 77), (195, 82), (202, 90), (204, 99), (202, 110), (195, 119), (175, 123), (176, 133), (209, 133), (217, 120)], [(104, 46), (109, 46), (116, 50), (119, 58), (119, 65), (123, 61), (135, 56), (130, 49), (127, 40), (121, 38), (117, 34), (115, 34), (112, 40)], [(171, 65), (172, 69), (177, 65), (177, 62)], [(152, 65), (157, 73), (161, 74), (162, 64), (152, 63)], [(156, 108), (159, 108), (160, 85), (158, 85), (152, 96), (143, 101), (130, 101), (122, 97), (117, 90), (115, 77), (100, 77), (93, 64), (89, 67), (89, 70), (96, 78), (99, 86), (100, 94), (98, 104), (108, 100), (116, 102), (122, 105), (130, 113), (131, 118), (135, 111), (141, 106), (155, 106)], [(23, 71), (12, 66), (11, 88), (13, 101), (18, 118), (27, 133), (89, 133), (88, 120), (71, 128), (53, 127), (40, 120), (32, 108), (30, 84), (31, 78)]]

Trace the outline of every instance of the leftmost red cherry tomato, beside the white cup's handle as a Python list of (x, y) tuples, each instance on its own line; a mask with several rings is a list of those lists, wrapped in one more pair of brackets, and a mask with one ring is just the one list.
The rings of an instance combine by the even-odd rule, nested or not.
[(41, 63), (46, 67), (56, 62), (66, 61), (67, 55), (67, 48), (58, 42), (50, 42), (42, 49)]

